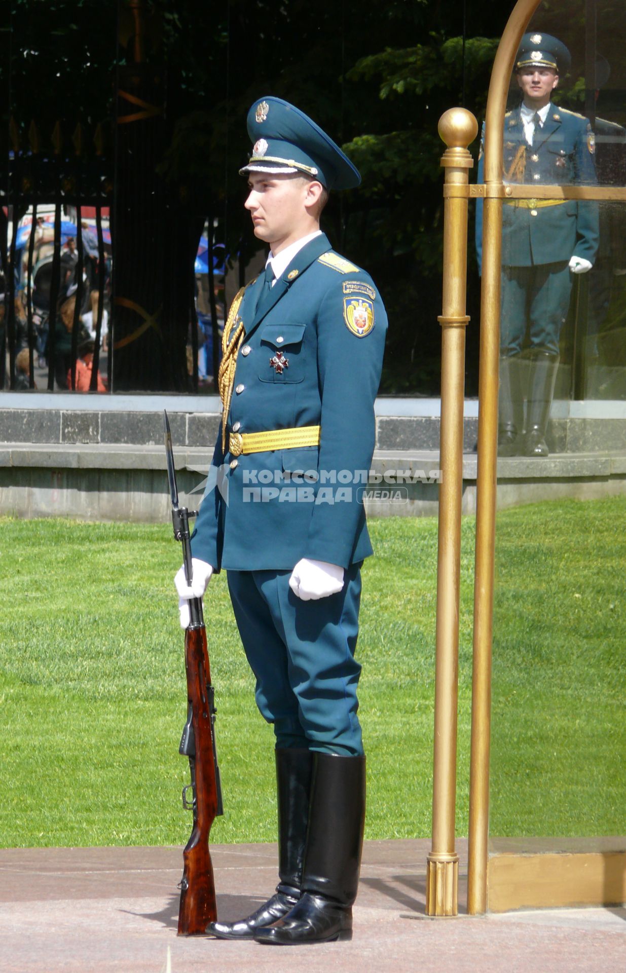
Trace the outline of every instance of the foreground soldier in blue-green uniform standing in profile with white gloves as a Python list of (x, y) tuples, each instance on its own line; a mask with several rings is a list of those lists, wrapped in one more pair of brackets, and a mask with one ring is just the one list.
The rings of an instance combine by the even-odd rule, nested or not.
[[(351, 936), (365, 812), (354, 658), (360, 566), (372, 554), (361, 501), (375, 439), (387, 315), (364, 270), (319, 230), (328, 192), (360, 176), (280, 98), (250, 109), (249, 211), (271, 247), (225, 327), (224, 412), (192, 538), (193, 583), (228, 571), (256, 702), (276, 734), (279, 882), (225, 939), (310, 943)], [(213, 478), (215, 482), (215, 477)]]

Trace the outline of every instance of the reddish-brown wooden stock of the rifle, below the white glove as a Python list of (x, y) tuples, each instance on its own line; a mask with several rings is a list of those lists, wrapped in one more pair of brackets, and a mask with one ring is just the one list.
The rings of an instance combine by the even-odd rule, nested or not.
[[(183, 851), (178, 935), (196, 936), (203, 935), (208, 923), (217, 919), (208, 836), (216, 814), (222, 813), (213, 739), (213, 688), (206, 651), (206, 631), (202, 622), (200, 625), (192, 622), (185, 632), (185, 669), (188, 720), (180, 742), (180, 752), (189, 757), (194, 828)], [(190, 752), (192, 749), (193, 753)], [(183, 790), (183, 805), (188, 808), (186, 792), (187, 787)]]

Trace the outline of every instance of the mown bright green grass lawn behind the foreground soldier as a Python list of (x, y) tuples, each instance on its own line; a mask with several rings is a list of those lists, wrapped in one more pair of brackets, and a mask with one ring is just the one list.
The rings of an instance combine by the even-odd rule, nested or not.
[[(626, 498), (498, 515), (493, 835), (623, 834)], [(473, 519), (462, 526), (458, 832), (467, 833)], [(371, 522), (358, 657), (366, 837), (431, 811), (437, 523)], [(0, 520), (0, 846), (186, 842), (183, 632), (163, 525)], [(226, 578), (205, 615), (225, 815), (214, 842), (276, 836), (273, 733), (256, 711)]]

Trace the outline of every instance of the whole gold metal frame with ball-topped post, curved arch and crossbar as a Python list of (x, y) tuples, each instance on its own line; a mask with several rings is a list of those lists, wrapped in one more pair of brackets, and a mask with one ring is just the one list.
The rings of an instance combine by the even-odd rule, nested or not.
[[(467, 911), (470, 915), (477, 915), (486, 912), (488, 908), (502, 201), (509, 198), (586, 198), (626, 202), (626, 187), (623, 186), (531, 186), (522, 183), (504, 185), (502, 131), (509, 82), (522, 35), (539, 5), (540, 0), (518, 0), (497, 48), (485, 119), (483, 184), (469, 185), (467, 180), (467, 167), (471, 165), (471, 157), (466, 146), (473, 140), (477, 130), (474, 117), (464, 109), (450, 109), (439, 123), (439, 132), (448, 146), (441, 161), (446, 168), (446, 177), (443, 190), (443, 314), (439, 319), (443, 331), (442, 377), (445, 374), (448, 380), (442, 380), (441, 395), (440, 466), (443, 481), (439, 492), (437, 557), (432, 847), (426, 863), (426, 914), (430, 916), (455, 916), (458, 912), (459, 859), (455, 849), (455, 806), (462, 374), (464, 325), (468, 321), (465, 315), (464, 288), (467, 203), (469, 198), (484, 199), (467, 876)], [(626, 862), (626, 851), (619, 853)], [(507, 867), (511, 869), (513, 866), (509, 864)], [(516, 869), (519, 873), (517, 866)], [(584, 863), (579, 867), (578, 874), (582, 875), (583, 871)], [(593, 894), (599, 893), (595, 891)], [(590, 898), (585, 901), (600, 900)]]

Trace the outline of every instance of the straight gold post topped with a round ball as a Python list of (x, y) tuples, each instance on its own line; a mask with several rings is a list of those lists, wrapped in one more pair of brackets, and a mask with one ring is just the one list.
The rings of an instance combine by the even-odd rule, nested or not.
[(459, 685), (460, 503), (462, 495), (465, 283), (467, 271), (467, 146), (478, 133), (474, 116), (451, 108), (439, 120), (448, 148), (445, 167), (441, 446), (437, 633), (435, 659), (432, 847), (426, 863), (426, 915), (456, 916), (459, 856), (455, 850), (457, 697)]

